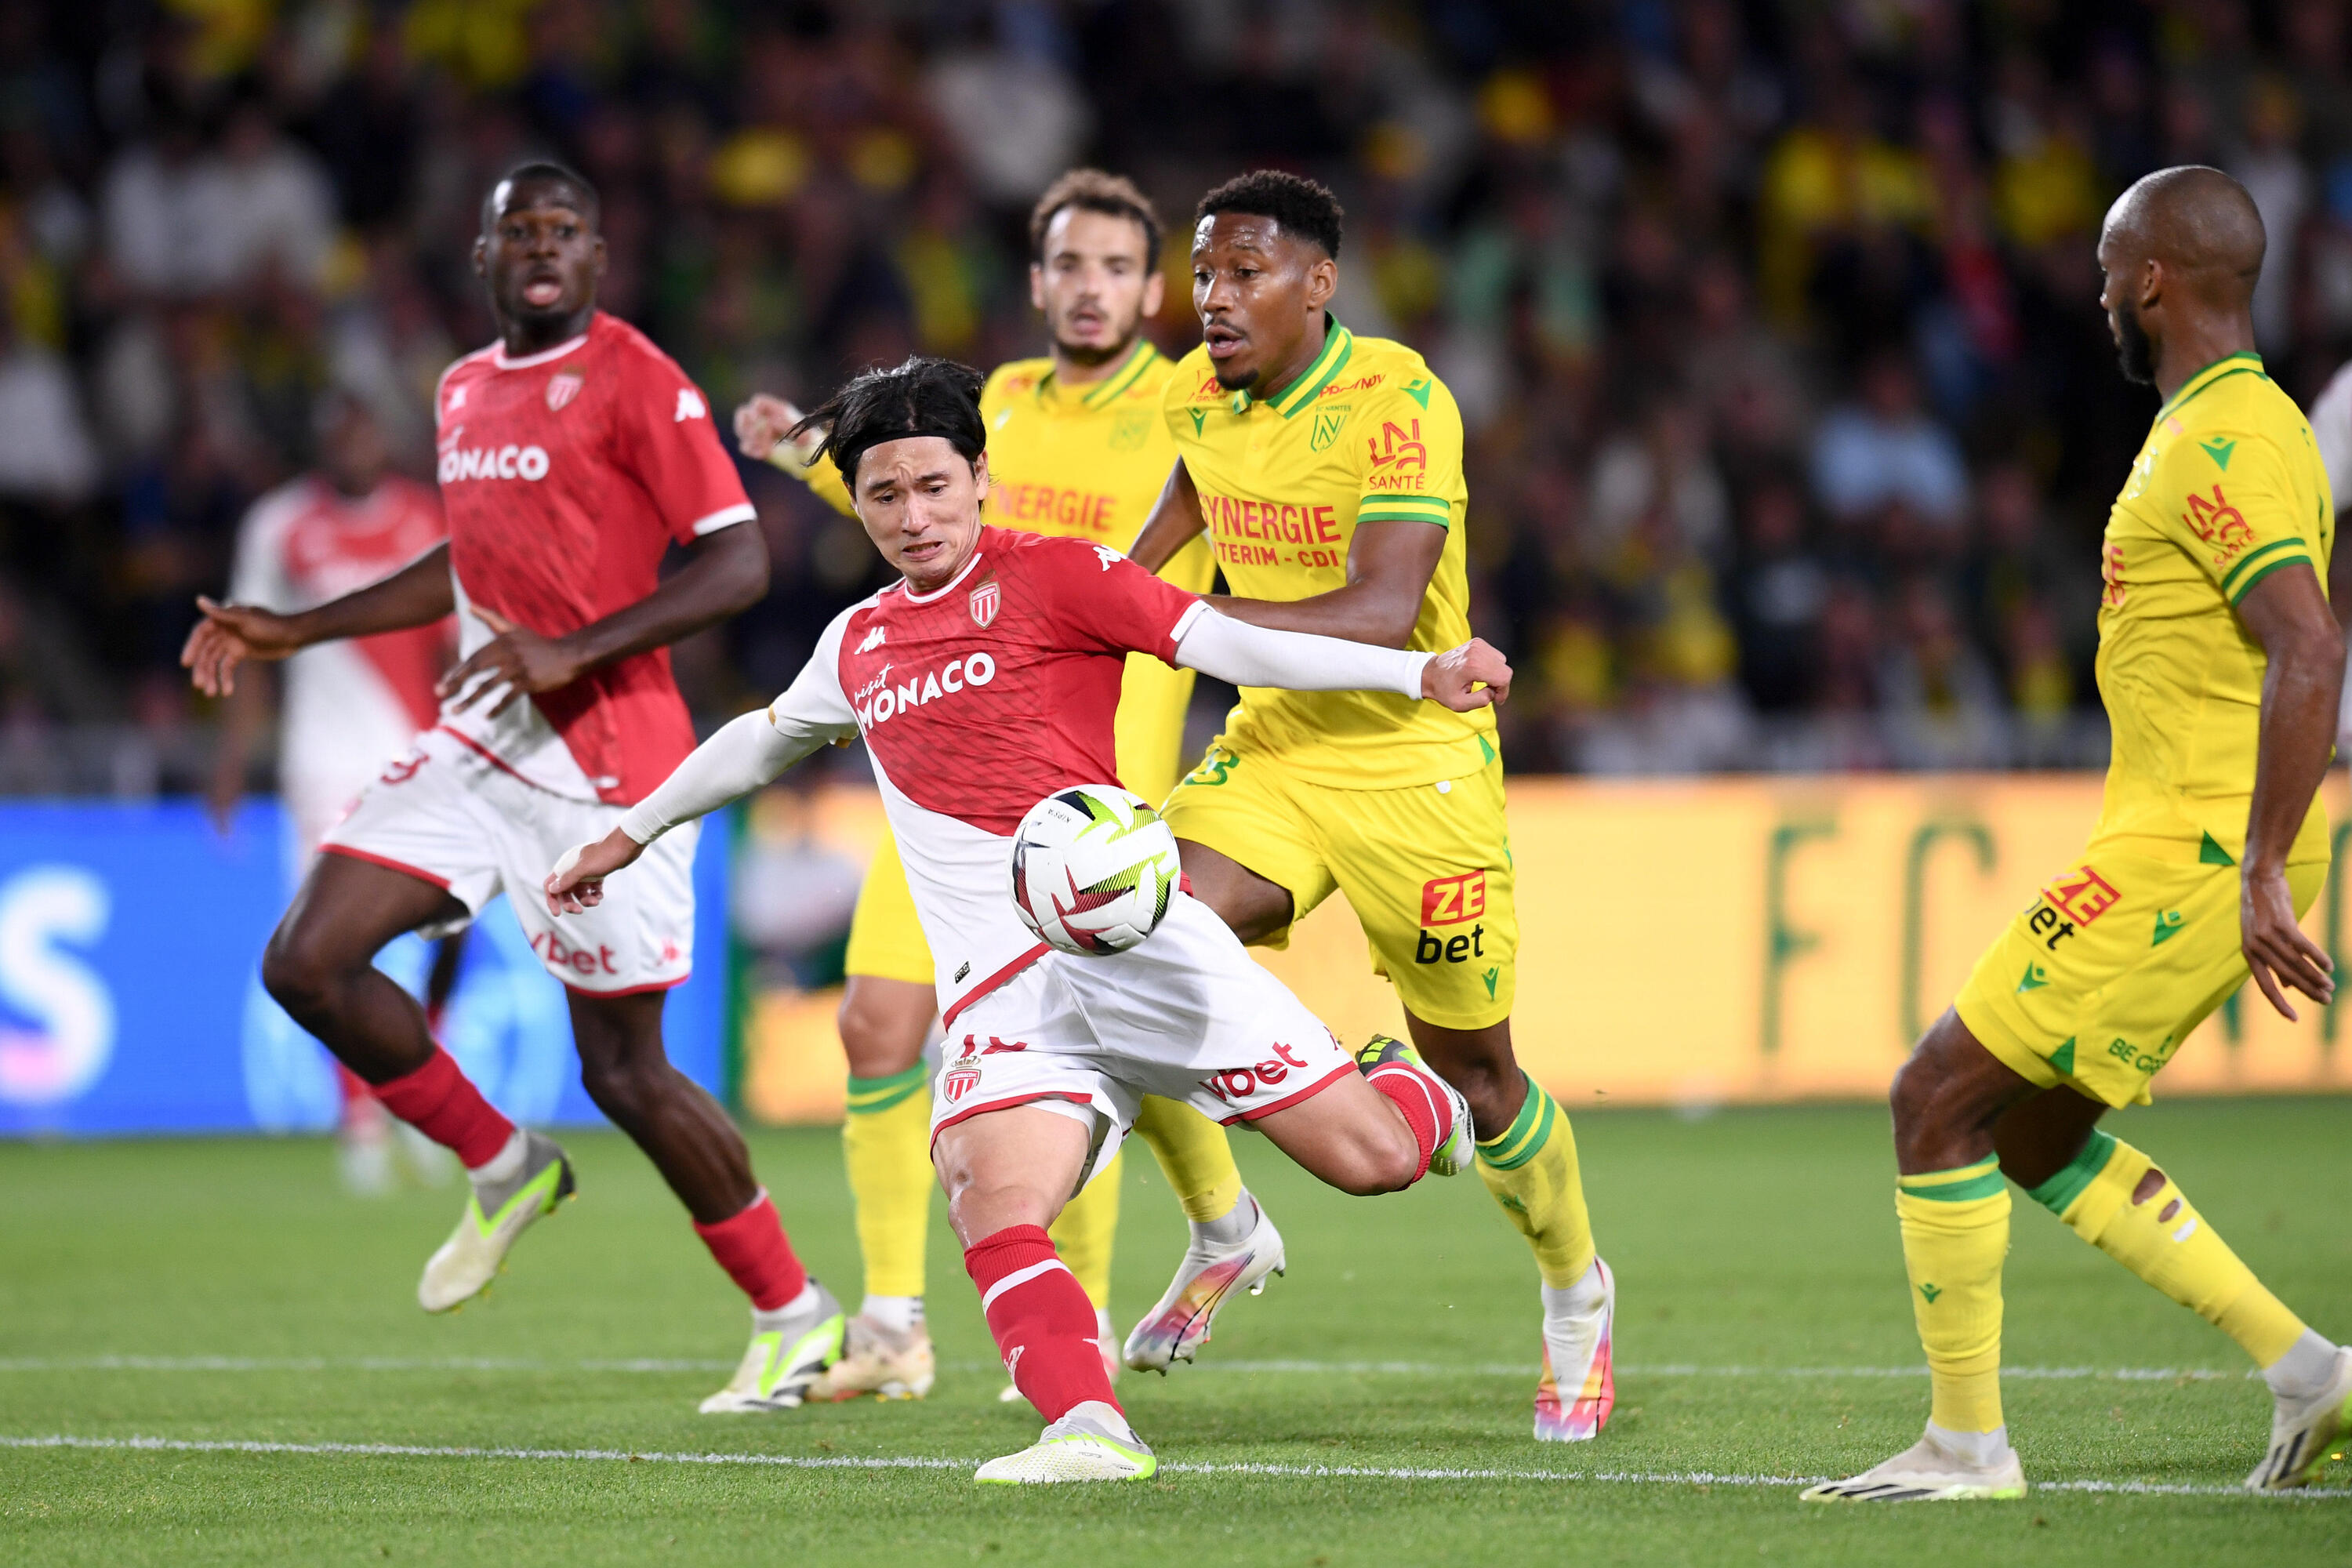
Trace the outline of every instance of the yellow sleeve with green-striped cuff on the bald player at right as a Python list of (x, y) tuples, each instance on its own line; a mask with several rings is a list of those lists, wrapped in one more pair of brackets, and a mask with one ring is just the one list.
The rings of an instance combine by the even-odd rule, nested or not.
[(2319, 517), (2303, 517), (2279, 449), (2260, 435), (2178, 440), (2164, 454), (2157, 527), (2220, 588), (2244, 602), (2272, 571), (2319, 569)]

